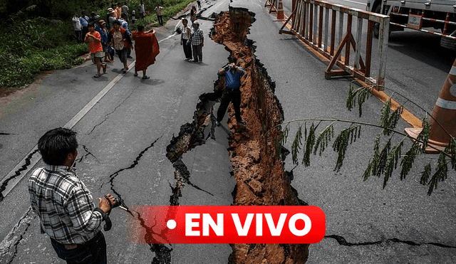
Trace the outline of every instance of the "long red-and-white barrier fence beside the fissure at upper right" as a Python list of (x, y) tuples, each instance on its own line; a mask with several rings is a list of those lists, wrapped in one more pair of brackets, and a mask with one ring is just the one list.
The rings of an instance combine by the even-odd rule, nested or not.
[[(271, 5), (271, 10), (276, 4), (266, 1)], [(333, 76), (351, 75), (366, 82), (377, 90), (383, 90), (385, 85), (386, 54), (388, 49), (388, 31), (390, 17), (375, 14), (361, 9), (353, 9), (347, 6), (331, 4), (318, 0), (293, 0), (293, 12), (286, 19), (284, 26), (279, 33), (286, 33), (296, 36), (304, 41), (315, 51), (328, 58), (330, 62), (325, 70), (325, 78)], [(331, 15), (330, 15), (331, 11)], [(356, 38), (353, 37), (352, 23), (353, 16), (358, 21)], [(338, 19), (336, 19), (338, 18)], [(331, 22), (330, 22), (331, 19)], [(344, 27), (344, 21), (346, 26)], [(367, 21), (366, 51), (361, 51), (363, 41), (363, 26)], [(377, 24), (375, 24), (377, 23)], [(284, 30), (285, 27), (289, 30)], [(372, 38), (374, 26), (379, 28), (378, 36), (378, 72), (375, 78), (371, 77), (372, 61)], [(338, 42), (336, 43), (336, 31)], [(328, 41), (328, 39), (330, 41)], [(345, 48), (345, 53), (343, 49)], [(353, 65), (351, 65), (351, 48), (354, 51)], [(364, 53), (364, 54), (362, 54)], [(362, 55), (364, 55), (364, 62)], [(337, 65), (339, 69), (333, 69)]]

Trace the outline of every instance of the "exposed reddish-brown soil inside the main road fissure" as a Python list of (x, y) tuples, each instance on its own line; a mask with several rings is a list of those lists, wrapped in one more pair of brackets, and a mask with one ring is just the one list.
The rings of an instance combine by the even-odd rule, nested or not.
[[(253, 42), (247, 39), (254, 14), (247, 9), (231, 8), (217, 16), (212, 39), (231, 53), (230, 60), (246, 70), (242, 79), (242, 118), (246, 130), (239, 130), (234, 109), (229, 106), (229, 154), (234, 178), (236, 206), (303, 205), (291, 187), (281, 159), (276, 158), (275, 140), (280, 130), (274, 128), (283, 119), (274, 96), (275, 83), (254, 56)], [(223, 84), (223, 82), (220, 82)], [(229, 263), (305, 263), (306, 244), (235, 244)]]

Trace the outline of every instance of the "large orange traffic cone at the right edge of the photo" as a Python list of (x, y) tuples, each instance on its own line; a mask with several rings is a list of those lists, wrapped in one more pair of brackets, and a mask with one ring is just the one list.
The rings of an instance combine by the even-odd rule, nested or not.
[[(430, 125), (429, 145), (426, 153), (439, 153), (445, 150), (450, 144), (451, 137), (456, 137), (456, 60), (452, 65), (447, 80), (440, 91), (437, 102), (435, 102), (432, 117), (428, 119)], [(423, 128), (406, 128), (405, 132), (416, 139)]]

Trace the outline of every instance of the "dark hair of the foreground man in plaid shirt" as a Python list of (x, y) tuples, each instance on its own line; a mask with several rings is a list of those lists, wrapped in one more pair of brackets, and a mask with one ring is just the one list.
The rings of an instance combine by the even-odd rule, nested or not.
[(38, 140), (38, 150), (49, 165), (63, 165), (66, 156), (78, 149), (76, 132), (58, 127), (49, 130)]

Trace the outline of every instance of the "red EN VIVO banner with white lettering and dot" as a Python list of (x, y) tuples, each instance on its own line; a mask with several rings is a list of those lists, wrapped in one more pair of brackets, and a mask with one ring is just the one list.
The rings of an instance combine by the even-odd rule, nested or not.
[(316, 206), (135, 206), (132, 243), (318, 243), (325, 214)]

